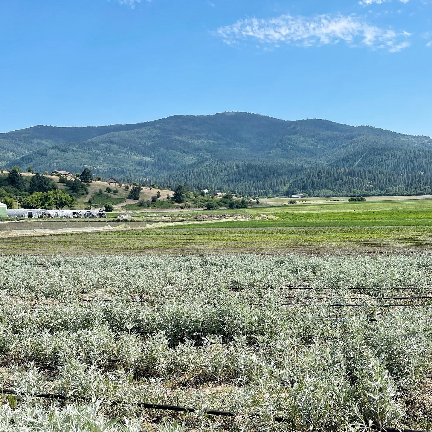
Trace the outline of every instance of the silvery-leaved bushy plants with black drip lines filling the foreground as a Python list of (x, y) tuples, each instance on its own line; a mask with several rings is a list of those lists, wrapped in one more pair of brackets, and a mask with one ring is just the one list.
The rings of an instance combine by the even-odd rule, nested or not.
[(0, 430), (429, 430), (431, 344), (428, 256), (3, 257)]

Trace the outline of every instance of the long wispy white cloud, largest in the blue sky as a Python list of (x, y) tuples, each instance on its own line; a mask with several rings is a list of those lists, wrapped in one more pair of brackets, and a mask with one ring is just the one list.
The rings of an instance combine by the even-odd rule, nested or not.
[(232, 25), (220, 27), (217, 34), (227, 44), (253, 39), (261, 44), (281, 43), (296, 46), (336, 44), (345, 41), (350, 46), (386, 48), (391, 52), (407, 48), (408, 34), (392, 29), (381, 29), (355, 15), (319, 15), (314, 18), (282, 15), (271, 19), (241, 19)]

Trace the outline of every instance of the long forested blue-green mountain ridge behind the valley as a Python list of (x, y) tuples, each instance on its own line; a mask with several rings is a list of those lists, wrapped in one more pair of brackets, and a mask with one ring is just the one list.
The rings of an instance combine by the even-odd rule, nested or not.
[(78, 172), (87, 165), (124, 181), (257, 194), (426, 193), (431, 150), (429, 137), (242, 112), (0, 134), (0, 166)]

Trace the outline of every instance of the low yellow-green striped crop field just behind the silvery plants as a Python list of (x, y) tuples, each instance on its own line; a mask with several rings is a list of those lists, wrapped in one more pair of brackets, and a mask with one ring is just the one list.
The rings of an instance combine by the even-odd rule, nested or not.
[[(396, 254), (432, 252), (432, 226), (136, 229), (0, 239), (1, 254)], [(247, 223), (247, 222), (245, 222)]]

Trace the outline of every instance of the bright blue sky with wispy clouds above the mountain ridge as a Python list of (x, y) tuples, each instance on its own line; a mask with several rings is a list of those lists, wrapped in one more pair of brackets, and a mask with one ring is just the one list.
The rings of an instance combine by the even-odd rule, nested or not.
[(0, 131), (250, 111), (432, 136), (432, 0), (8, 0)]

